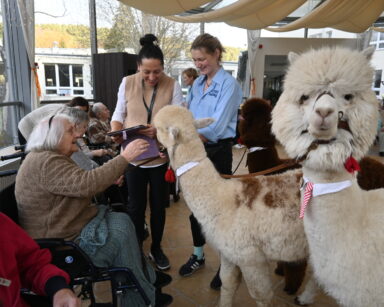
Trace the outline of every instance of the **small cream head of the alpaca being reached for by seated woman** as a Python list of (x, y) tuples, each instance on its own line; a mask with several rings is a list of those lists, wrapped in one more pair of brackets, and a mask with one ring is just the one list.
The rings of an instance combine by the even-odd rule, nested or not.
[(196, 129), (210, 125), (212, 118), (195, 120), (192, 113), (180, 106), (166, 106), (154, 118), (158, 140), (168, 149), (199, 139)]

